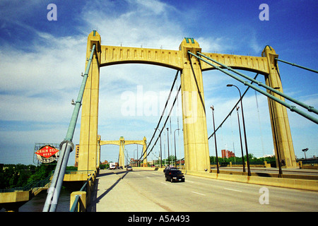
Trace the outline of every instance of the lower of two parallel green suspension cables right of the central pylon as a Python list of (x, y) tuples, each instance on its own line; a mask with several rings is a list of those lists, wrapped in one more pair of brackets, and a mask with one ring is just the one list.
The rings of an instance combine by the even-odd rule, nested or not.
[(300, 109), (298, 109), (297, 107), (290, 105), (288, 103), (286, 103), (285, 101), (278, 99), (277, 97), (274, 97), (273, 95), (266, 93), (264, 90), (261, 90), (260, 88), (257, 88), (255, 85), (252, 85), (250, 83), (248, 83), (247, 81), (244, 81), (242, 78), (239, 78), (235, 75), (232, 75), (231, 73), (229, 73), (228, 71), (225, 71), (224, 69), (221, 69), (219, 66), (216, 66), (215, 64), (212, 64), (211, 62), (207, 61), (206, 59), (203, 59), (199, 56), (197, 56), (196, 54), (193, 54), (192, 52), (188, 51), (188, 54), (191, 54), (192, 56), (201, 59), (201, 61), (206, 62), (206, 64), (209, 64), (211, 66), (213, 66), (215, 69), (218, 69), (219, 71), (222, 71), (223, 73), (226, 73), (228, 76), (235, 78), (235, 80), (240, 81), (241, 83), (243, 83), (244, 85), (248, 85), (250, 88), (252, 88), (253, 90), (257, 90), (257, 92), (265, 95), (266, 97), (271, 98), (272, 100), (275, 100), (276, 102), (280, 103), (281, 105), (288, 107), (288, 109), (290, 109), (290, 111), (292, 112), (296, 112), (298, 114), (300, 114), (302, 117), (305, 117), (306, 119), (309, 119), (310, 121), (313, 121), (315, 124), (318, 124), (318, 119), (316, 119), (315, 117), (312, 117), (310, 114), (306, 114), (305, 112), (302, 112)]

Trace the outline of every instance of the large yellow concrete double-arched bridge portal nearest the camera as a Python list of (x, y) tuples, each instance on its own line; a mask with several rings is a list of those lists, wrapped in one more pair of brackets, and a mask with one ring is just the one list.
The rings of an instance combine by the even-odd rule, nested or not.
[[(182, 71), (182, 122), (186, 169), (194, 171), (210, 169), (202, 71), (211, 70), (213, 67), (199, 61), (195, 57), (190, 57), (188, 54), (188, 51), (193, 53), (201, 52), (199, 43), (192, 38), (184, 38), (177, 51), (102, 46), (100, 43), (101, 38), (98, 32), (93, 31), (88, 35), (86, 57), (89, 57), (93, 44), (97, 47), (97, 51), (90, 66), (83, 94), (80, 134), (81, 152), (79, 154), (78, 169), (96, 169), (100, 67), (114, 64), (155, 64)], [(282, 91), (278, 67), (274, 61), (278, 55), (270, 47), (264, 49), (264, 57), (204, 54), (231, 66), (233, 69), (243, 69), (264, 74), (266, 76), (266, 84)], [(283, 152), (281, 152), (283, 153), (281, 154), (283, 156), (282, 160), (285, 159), (285, 162), (288, 162), (288, 167), (294, 167), (295, 154), (293, 152), (286, 109), (280, 105), (273, 106), (272, 103), (269, 108), (273, 112), (273, 118), (271, 117), (272, 131), (276, 133), (275, 137), (278, 143), (281, 143), (280, 148), (283, 149)], [(279, 139), (281, 140), (279, 141)]]

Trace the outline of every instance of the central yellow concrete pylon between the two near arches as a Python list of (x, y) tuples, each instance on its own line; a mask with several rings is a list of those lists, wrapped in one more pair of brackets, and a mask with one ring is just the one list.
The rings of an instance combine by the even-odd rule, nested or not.
[(182, 121), (184, 137), (184, 162), (187, 170), (210, 170), (208, 132), (202, 71), (198, 59), (190, 57), (188, 51), (201, 52), (198, 42), (184, 39), (179, 46), (182, 52), (181, 75)]

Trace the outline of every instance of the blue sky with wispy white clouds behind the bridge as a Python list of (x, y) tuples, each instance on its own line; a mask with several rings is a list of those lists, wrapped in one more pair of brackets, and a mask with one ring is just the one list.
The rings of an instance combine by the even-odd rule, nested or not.
[[(57, 5), (57, 20), (47, 20), (47, 5)], [(269, 20), (259, 20), (260, 4), (269, 5)], [(194, 37), (202, 52), (261, 56), (266, 44), (280, 59), (318, 69), (317, 1), (0, 1), (0, 163), (33, 164), (35, 143), (63, 141), (85, 70), (87, 36), (98, 30), (104, 45), (178, 49), (184, 37)], [(317, 75), (278, 64), (284, 93), (318, 107)], [(254, 77), (254, 73), (245, 72)], [(170, 90), (175, 71), (150, 65), (108, 66), (100, 70), (99, 134), (103, 140), (150, 141), (158, 123), (160, 101)], [(223, 121), (245, 87), (218, 71), (206, 71), (204, 97), (208, 135)], [(260, 75), (259, 81), (264, 82)], [(179, 81), (178, 81), (179, 83)], [(122, 114), (124, 94), (143, 91), (143, 103), (158, 102), (156, 115)], [(149, 99), (154, 98), (154, 99)], [(243, 100), (249, 153), (273, 153), (266, 97), (249, 90)], [(179, 102), (179, 107), (181, 102)], [(145, 110), (145, 109), (144, 109)], [(218, 149), (240, 156), (237, 115), (217, 133)], [(295, 155), (317, 155), (317, 125), (288, 110)], [(74, 143), (79, 143), (81, 117)], [(177, 120), (172, 117), (172, 131)], [(177, 133), (176, 133), (177, 134)], [(173, 134), (170, 151), (173, 150)], [(163, 142), (167, 142), (163, 137)], [(177, 155), (183, 157), (182, 133), (176, 136)], [(179, 148), (180, 147), (180, 148)], [(209, 141), (210, 155), (215, 155)], [(133, 157), (136, 145), (127, 145)], [(165, 147), (167, 150), (167, 147)], [(153, 150), (158, 156), (159, 146)], [(118, 146), (102, 146), (101, 160), (117, 161)], [(141, 147), (139, 147), (139, 153)], [(219, 153), (220, 155), (220, 153)], [(73, 165), (71, 153), (69, 165)], [(140, 154), (139, 154), (140, 156)], [(165, 155), (164, 155), (165, 156)], [(167, 156), (167, 154), (166, 154)]]

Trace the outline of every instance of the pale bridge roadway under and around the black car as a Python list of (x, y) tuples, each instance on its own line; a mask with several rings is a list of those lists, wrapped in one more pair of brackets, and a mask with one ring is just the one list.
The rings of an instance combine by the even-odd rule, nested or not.
[(162, 171), (100, 170), (91, 212), (317, 212), (318, 192), (185, 175), (166, 182)]

